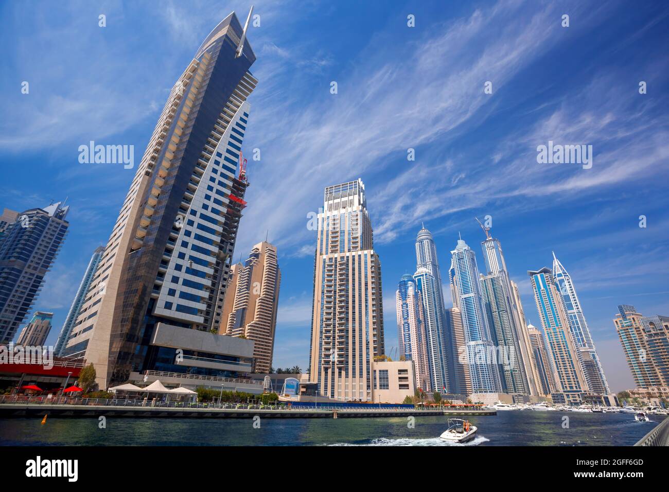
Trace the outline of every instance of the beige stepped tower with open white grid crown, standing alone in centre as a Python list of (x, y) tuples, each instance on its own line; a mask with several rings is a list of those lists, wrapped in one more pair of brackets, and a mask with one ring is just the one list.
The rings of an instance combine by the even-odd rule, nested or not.
[(372, 400), (383, 355), (381, 262), (361, 179), (325, 188), (318, 214), (309, 374), (320, 394)]

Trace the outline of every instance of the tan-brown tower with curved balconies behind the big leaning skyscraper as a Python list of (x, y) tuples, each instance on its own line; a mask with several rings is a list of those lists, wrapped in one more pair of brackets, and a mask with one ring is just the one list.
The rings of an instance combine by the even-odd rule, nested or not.
[(256, 372), (270, 372), (281, 284), (276, 246), (256, 244), (244, 264), (232, 266), (231, 275), (218, 333), (253, 340)]

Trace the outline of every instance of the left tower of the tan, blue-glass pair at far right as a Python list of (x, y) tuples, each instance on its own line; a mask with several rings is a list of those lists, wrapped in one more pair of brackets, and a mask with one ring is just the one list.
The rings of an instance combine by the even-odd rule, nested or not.
[(630, 305), (619, 305), (618, 311), (619, 313), (613, 319), (613, 324), (625, 352), (636, 387), (666, 386), (662, 384), (660, 373), (653, 357), (650, 356), (651, 351), (642, 321), (644, 316), (638, 313), (634, 306)]

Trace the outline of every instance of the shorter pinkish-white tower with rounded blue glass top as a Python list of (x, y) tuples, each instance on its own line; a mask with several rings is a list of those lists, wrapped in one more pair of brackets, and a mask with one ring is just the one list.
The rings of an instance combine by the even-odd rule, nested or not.
[(416, 388), (430, 392), (432, 385), (427, 365), (423, 298), (411, 274), (407, 273), (399, 280), (395, 301), (399, 355), (405, 360), (413, 361)]

